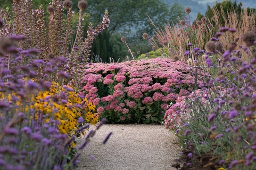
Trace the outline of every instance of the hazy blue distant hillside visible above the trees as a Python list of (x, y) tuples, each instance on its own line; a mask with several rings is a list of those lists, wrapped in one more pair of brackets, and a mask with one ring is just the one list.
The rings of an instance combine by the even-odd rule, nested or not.
[[(216, 2), (221, 2), (223, 0), (163, 0), (166, 4), (172, 5), (173, 3), (177, 2), (181, 5), (184, 9), (186, 7), (191, 8), (190, 16), (192, 20), (196, 19), (198, 12), (201, 14), (205, 14), (207, 10), (207, 5), (214, 6)], [(234, 1), (234, 0), (231, 0)], [(237, 3), (242, 2), (243, 7), (249, 8), (256, 8), (256, 0), (236, 0)]]

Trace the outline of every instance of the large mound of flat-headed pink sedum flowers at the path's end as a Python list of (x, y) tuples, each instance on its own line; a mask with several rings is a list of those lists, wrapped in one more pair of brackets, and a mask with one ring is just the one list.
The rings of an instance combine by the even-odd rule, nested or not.
[(189, 68), (163, 58), (92, 63), (84, 70), (81, 88), (109, 123), (162, 123), (169, 104), (194, 86)]

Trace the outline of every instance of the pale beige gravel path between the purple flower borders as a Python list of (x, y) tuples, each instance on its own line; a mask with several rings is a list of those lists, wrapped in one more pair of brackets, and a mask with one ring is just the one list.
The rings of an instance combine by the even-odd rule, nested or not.
[[(113, 134), (102, 145), (110, 131)], [(77, 142), (81, 144), (83, 138)], [(171, 164), (180, 150), (174, 135), (162, 125), (106, 124), (80, 153), (78, 170), (177, 170)]]

